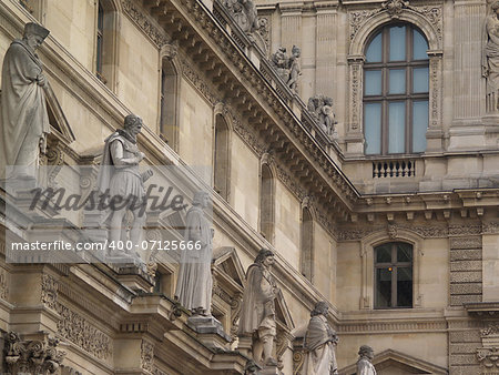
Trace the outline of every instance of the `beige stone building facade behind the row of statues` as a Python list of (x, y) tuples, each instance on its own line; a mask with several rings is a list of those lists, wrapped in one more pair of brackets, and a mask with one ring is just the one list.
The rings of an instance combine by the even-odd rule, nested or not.
[[(104, 139), (135, 113), (141, 165), (175, 171), (154, 181), (187, 201), (211, 192), (212, 312), (224, 331), (187, 325), (172, 254), (149, 253), (146, 268), (17, 264), (2, 239), (2, 371), (33, 366), (38, 345), (61, 374), (243, 374), (245, 271), (269, 247), (282, 291), (275, 373), (302, 373), (324, 300), (342, 374), (355, 373), (363, 344), (379, 374), (499, 374), (499, 110), (482, 70), (491, 6), (258, 0), (258, 28), (243, 30), (222, 1), (1, 1), (1, 57), (27, 22), (50, 30), (39, 50), (53, 90), (49, 183), (88, 194)], [(293, 45), (296, 88), (272, 63)], [(334, 132), (306, 104), (315, 95), (333, 99)], [(19, 217), (3, 210), (1, 225), (20, 241), (55, 220), (47, 233), (75, 242), (88, 220)], [(181, 239), (182, 214), (147, 217), (147, 240)]]

